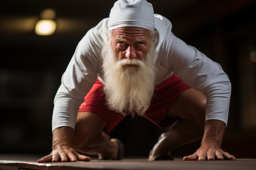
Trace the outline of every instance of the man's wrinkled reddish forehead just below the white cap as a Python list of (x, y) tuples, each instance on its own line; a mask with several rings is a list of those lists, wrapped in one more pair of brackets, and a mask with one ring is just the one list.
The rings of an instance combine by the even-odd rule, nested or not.
[(112, 37), (116, 38), (145, 38), (150, 39), (149, 30), (140, 27), (120, 27), (112, 30)]

